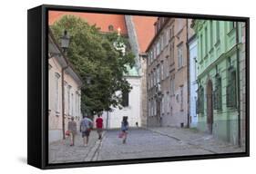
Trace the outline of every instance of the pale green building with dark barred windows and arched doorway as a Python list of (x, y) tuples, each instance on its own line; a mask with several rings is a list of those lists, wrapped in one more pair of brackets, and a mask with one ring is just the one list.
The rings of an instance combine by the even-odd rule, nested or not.
[(241, 142), (242, 23), (194, 20), (198, 40), (198, 129), (234, 145)]

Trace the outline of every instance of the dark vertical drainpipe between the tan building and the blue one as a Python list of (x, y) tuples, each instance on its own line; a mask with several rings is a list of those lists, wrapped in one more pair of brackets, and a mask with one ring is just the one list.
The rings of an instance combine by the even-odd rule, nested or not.
[(189, 122), (189, 111), (190, 111), (190, 109), (189, 109), (189, 96), (190, 96), (190, 88), (189, 88), (189, 85), (190, 85), (190, 77), (189, 77), (189, 43), (188, 43), (188, 41), (189, 41), (189, 22), (188, 22), (188, 19), (186, 19), (186, 28), (187, 28), (187, 34), (186, 34), (186, 47), (187, 47), (187, 78), (188, 78), (188, 84), (187, 84), (187, 86), (188, 86), (188, 105), (187, 105), (187, 107), (188, 107), (188, 113), (187, 113), (187, 120), (188, 120), (188, 122), (187, 122), (187, 127), (189, 128), (189, 124), (190, 124), (190, 122)]

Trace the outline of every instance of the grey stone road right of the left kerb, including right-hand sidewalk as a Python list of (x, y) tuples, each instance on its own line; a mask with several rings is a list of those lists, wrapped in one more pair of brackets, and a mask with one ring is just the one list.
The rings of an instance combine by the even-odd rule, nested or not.
[(131, 130), (127, 144), (118, 139), (118, 131), (108, 131), (97, 160), (123, 160), (184, 155), (241, 152), (227, 142), (190, 129), (151, 128)]

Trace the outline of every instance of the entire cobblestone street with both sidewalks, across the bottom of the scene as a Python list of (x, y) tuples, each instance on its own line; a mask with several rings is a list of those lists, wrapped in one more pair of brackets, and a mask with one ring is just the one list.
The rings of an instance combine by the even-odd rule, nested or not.
[(190, 129), (151, 128), (128, 131), (127, 144), (118, 138), (118, 130), (106, 131), (103, 140), (97, 140), (92, 131), (88, 147), (82, 146), (80, 134), (75, 147), (67, 140), (50, 145), (49, 162), (75, 162), (91, 160), (123, 160), (183, 155), (241, 152), (227, 142), (215, 140), (209, 134)]

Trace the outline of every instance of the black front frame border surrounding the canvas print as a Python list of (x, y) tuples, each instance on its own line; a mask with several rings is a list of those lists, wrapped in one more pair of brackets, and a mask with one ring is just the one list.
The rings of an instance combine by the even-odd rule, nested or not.
[[(250, 156), (250, 17), (241, 16), (227, 16), (227, 15), (210, 15), (210, 14), (183, 14), (183, 13), (169, 13), (169, 12), (155, 12), (155, 11), (141, 11), (141, 10), (128, 10), (128, 9), (113, 9), (113, 8), (97, 8), (97, 7), (82, 7), (82, 6), (67, 6), (67, 5), (40, 5), (41, 20), (42, 20), (42, 46), (41, 46), (41, 61), (42, 61), (42, 112), (40, 116), (42, 129), (41, 129), (41, 162), (40, 165), (33, 165), (40, 169), (64, 169), (64, 168), (77, 168), (77, 167), (95, 167), (95, 166), (110, 166), (110, 165), (124, 165), (124, 164), (138, 164), (138, 163), (151, 163), (151, 162), (169, 162), (180, 160), (211, 160), (211, 159), (226, 159)], [(48, 119), (47, 119), (47, 28), (48, 28), (48, 11), (72, 11), (72, 12), (91, 12), (91, 13), (104, 13), (104, 14), (134, 14), (146, 16), (171, 16), (183, 18), (200, 18), (200, 19), (216, 19), (216, 20), (232, 20), (246, 23), (246, 150), (241, 153), (221, 153), (213, 155), (195, 155), (195, 156), (178, 156), (168, 158), (152, 158), (152, 159), (135, 159), (135, 160), (106, 160), (96, 162), (74, 162), (74, 163), (48, 163)], [(31, 38), (28, 38), (28, 41)], [(28, 48), (29, 50), (29, 48)], [(29, 67), (28, 67), (29, 69)], [(28, 74), (29, 75), (29, 74)], [(32, 106), (33, 103), (28, 102)], [(29, 118), (28, 118), (29, 119)], [(29, 125), (28, 125), (29, 126)], [(29, 140), (28, 140), (29, 141)]]

